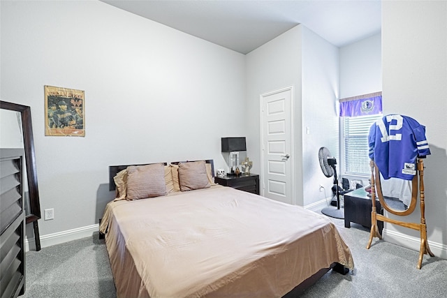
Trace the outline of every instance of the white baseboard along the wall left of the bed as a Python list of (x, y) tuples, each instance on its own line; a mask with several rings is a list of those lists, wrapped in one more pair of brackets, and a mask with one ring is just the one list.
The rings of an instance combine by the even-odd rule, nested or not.
[[(41, 248), (61, 244), (64, 242), (81, 239), (93, 235), (98, 232), (99, 225), (87, 225), (86, 227), (76, 228), (73, 230), (66, 230), (53, 234), (41, 235)], [(36, 241), (34, 237), (25, 239), (25, 251), (29, 251), (29, 247), (36, 249)]]

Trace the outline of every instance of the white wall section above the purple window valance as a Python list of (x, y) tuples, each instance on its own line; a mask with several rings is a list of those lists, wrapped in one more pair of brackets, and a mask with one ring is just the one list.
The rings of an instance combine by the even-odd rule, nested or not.
[(382, 91), (381, 33), (340, 47), (339, 54), (339, 98)]

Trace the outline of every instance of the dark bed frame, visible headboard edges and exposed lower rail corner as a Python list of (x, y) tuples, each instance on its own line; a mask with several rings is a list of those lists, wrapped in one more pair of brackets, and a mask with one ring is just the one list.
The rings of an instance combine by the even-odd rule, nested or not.
[[(177, 161), (177, 162), (173, 162), (172, 164), (178, 165), (179, 163), (186, 163), (186, 162), (188, 162), (188, 161)], [(214, 177), (214, 161), (212, 159), (207, 159), (207, 160), (205, 160), (205, 162), (211, 164), (212, 176)], [(152, 163), (145, 163), (142, 165), (149, 165), (149, 164), (152, 164)], [(168, 163), (163, 163), (163, 164), (167, 165)], [(115, 175), (118, 172), (126, 169), (127, 167), (129, 167), (129, 165), (110, 165), (109, 166), (109, 190), (110, 191), (115, 191), (115, 181), (113, 180), (113, 177), (115, 177)], [(100, 223), (101, 223), (101, 219), (100, 219)], [(100, 232), (99, 239), (104, 239), (104, 237), (105, 237), (105, 235)], [(293, 288), (293, 290), (291, 290), (286, 295), (284, 295), (283, 298), (299, 297), (300, 295), (302, 295), (303, 292), (305, 292), (305, 290), (307, 290), (307, 288), (314, 285), (314, 283), (316, 283), (321, 277), (323, 277), (323, 275), (328, 273), (328, 271), (330, 271), (330, 269), (332, 269), (333, 271), (336, 271), (339, 274), (343, 274), (343, 275), (345, 275), (349, 272), (349, 269), (344, 267), (343, 265), (340, 265), (339, 263), (332, 263), (332, 265), (330, 265), (329, 268), (320, 269), (319, 271), (316, 272), (316, 274), (310, 276), (305, 281), (303, 281), (302, 283), (297, 285), (295, 288)]]

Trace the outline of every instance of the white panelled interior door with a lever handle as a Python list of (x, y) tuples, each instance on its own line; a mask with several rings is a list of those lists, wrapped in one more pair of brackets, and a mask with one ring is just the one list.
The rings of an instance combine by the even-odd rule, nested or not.
[(293, 87), (261, 95), (261, 195), (295, 204), (293, 197)]

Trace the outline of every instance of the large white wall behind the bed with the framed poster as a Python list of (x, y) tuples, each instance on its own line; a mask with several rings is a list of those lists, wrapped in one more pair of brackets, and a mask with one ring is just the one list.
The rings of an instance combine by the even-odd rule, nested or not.
[[(31, 107), (44, 239), (98, 223), (109, 165), (223, 167), (220, 137), (246, 135), (244, 55), (100, 1), (0, 5), (0, 96)], [(85, 91), (85, 137), (45, 137), (44, 85)]]

